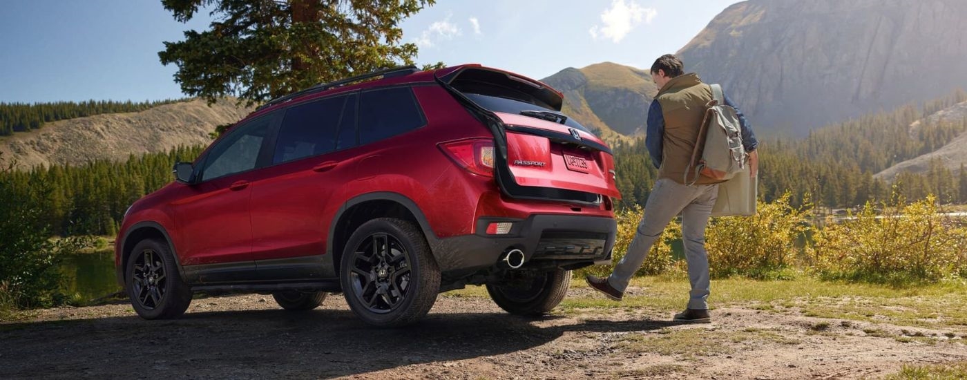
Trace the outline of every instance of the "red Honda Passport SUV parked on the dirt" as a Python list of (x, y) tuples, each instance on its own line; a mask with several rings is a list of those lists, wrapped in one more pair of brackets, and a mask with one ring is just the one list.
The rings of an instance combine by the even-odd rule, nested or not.
[(271, 293), (293, 310), (342, 292), (367, 323), (400, 326), (466, 284), (546, 312), (570, 270), (610, 260), (619, 196), (610, 150), (562, 102), (480, 65), (268, 102), (134, 202), (118, 281), (147, 319), (181, 315), (192, 292)]

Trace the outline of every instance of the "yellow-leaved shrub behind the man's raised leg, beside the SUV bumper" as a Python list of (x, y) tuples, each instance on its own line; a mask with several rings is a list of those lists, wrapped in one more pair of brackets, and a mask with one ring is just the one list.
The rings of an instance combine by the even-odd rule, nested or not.
[[(628, 246), (631, 244), (631, 239), (634, 238), (635, 231), (638, 229), (638, 223), (641, 221), (642, 215), (643, 210), (637, 205), (633, 208), (627, 208), (615, 213), (615, 219), (618, 220), (618, 236), (611, 254), (612, 265), (587, 267), (577, 271), (575, 276), (610, 275), (611, 271), (614, 270), (613, 263), (617, 263), (621, 261), (622, 257), (625, 257)], [(681, 238), (682, 224), (677, 220), (672, 220), (668, 223), (664, 232), (661, 233), (655, 245), (648, 251), (648, 256), (641, 264), (641, 268), (634, 273), (634, 276), (659, 275), (671, 269), (673, 266), (671, 242)]]

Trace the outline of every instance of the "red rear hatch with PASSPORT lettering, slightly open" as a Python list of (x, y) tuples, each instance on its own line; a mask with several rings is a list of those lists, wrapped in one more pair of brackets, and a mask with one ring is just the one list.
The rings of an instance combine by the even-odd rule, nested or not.
[(494, 174), (506, 194), (593, 204), (621, 197), (611, 150), (560, 112), (564, 98), (556, 90), (477, 66), (438, 80), (494, 133)]

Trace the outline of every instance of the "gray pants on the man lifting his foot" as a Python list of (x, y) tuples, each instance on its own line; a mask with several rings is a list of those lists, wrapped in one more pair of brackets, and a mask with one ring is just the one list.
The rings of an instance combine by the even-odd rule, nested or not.
[(718, 198), (718, 185), (685, 186), (667, 178), (655, 182), (648, 195), (645, 214), (638, 224), (625, 257), (614, 266), (608, 283), (622, 292), (661, 232), (679, 213), (682, 214), (682, 240), (689, 263), (691, 293), (689, 308), (707, 309), (709, 304), (709, 257), (705, 251), (705, 225)]

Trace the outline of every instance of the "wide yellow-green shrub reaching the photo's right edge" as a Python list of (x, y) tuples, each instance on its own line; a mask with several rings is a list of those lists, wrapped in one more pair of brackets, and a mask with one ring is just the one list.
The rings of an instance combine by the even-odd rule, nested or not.
[(902, 284), (967, 277), (967, 228), (937, 214), (936, 198), (911, 204), (895, 197), (859, 214), (828, 223), (809, 249), (812, 268), (824, 278)]

